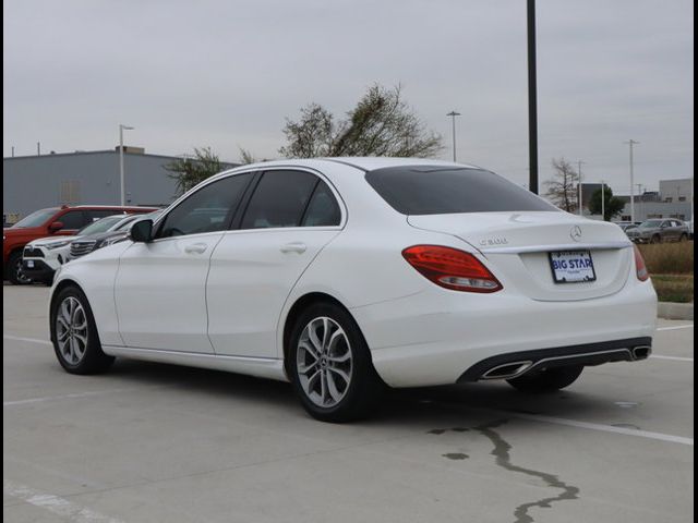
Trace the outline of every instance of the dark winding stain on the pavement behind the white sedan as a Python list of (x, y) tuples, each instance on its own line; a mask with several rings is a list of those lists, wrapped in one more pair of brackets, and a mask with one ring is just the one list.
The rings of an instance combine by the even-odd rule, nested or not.
[[(506, 471), (518, 472), (521, 474), (526, 474), (528, 476), (539, 477), (543, 482), (545, 482), (545, 484), (549, 487), (559, 488), (562, 490), (562, 492), (555, 497), (543, 498), (543, 499), (539, 499), (528, 503), (519, 504), (514, 510), (514, 518), (515, 518), (514, 523), (532, 523), (534, 520), (533, 520), (533, 516), (529, 514), (529, 510), (532, 509), (533, 507), (549, 509), (551, 508), (551, 503), (553, 502), (578, 499), (579, 488), (573, 485), (567, 485), (565, 482), (561, 481), (554, 474), (550, 474), (541, 471), (534, 471), (532, 469), (526, 469), (524, 466), (518, 466), (512, 463), (512, 455), (509, 453), (509, 451), (512, 450), (512, 446), (495, 430), (495, 428), (501, 427), (505, 423), (507, 423), (507, 419), (500, 419), (496, 422), (485, 423), (472, 428), (474, 431), (478, 431), (483, 436), (485, 436), (494, 446), (494, 449), (490, 453), (495, 457), (495, 463)], [(429, 430), (428, 434), (442, 435), (442, 434), (445, 434), (446, 431), (464, 433), (466, 430), (468, 429), (467, 428), (452, 428), (452, 429), (435, 428), (435, 429)], [(468, 458), (468, 454), (462, 454), (462, 453), (447, 453), (442, 455), (449, 460), (465, 460)]]

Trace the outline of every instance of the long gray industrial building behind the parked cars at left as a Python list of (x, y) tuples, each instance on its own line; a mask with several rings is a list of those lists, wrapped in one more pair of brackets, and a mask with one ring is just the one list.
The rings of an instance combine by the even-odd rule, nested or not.
[[(149, 155), (124, 147), (124, 179), (129, 205), (166, 206), (177, 196), (165, 166), (178, 157)], [(119, 205), (119, 147), (2, 159), (4, 223), (57, 205)]]

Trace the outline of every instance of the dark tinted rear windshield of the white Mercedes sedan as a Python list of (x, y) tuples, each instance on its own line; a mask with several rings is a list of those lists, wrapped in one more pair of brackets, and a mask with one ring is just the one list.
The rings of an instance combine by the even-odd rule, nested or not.
[(368, 172), (366, 181), (404, 215), (558, 210), (482, 169), (389, 167)]

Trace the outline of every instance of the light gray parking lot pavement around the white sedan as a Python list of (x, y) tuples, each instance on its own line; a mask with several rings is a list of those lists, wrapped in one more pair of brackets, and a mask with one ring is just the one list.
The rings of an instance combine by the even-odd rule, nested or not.
[(65, 374), (41, 287), (3, 287), (9, 522), (688, 522), (694, 328), (568, 389), (392, 392), (310, 418), (288, 384), (118, 361)]

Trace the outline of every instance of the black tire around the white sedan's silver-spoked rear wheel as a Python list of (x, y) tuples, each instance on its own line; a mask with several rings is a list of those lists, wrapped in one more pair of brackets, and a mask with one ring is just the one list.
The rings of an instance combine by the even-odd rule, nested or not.
[[(304, 336), (306, 328), (311, 328), (312, 323), (321, 321), (323, 318), (330, 319), (334, 323), (334, 327), (338, 327), (344, 331), (344, 339), (346, 342), (344, 342), (341, 350), (345, 353), (350, 353), (351, 355), (351, 360), (349, 362), (351, 365), (350, 370), (347, 370), (345, 367), (345, 370), (347, 370), (347, 374), (350, 376), (349, 384), (341, 391), (344, 394), (341, 399), (330, 406), (323, 406), (313, 401), (311, 398), (312, 390), (310, 393), (306, 392), (301, 382), (302, 378), (299, 370), (299, 351), (303, 351), (300, 352), (301, 360), (306, 355), (311, 355), (309, 351), (299, 348), (301, 336)], [(322, 336), (325, 338), (324, 332)], [(380, 405), (380, 401), (386, 386), (383, 384), (373, 367), (371, 351), (369, 350), (369, 345), (366, 344), (359, 326), (351, 315), (342, 307), (329, 302), (310, 305), (296, 320), (289, 337), (289, 343), (290, 345), (287, 352), (289, 360), (286, 362), (289, 377), (301, 404), (315, 419), (330, 423), (356, 421), (366, 417)], [(340, 341), (340, 343), (342, 342)], [(328, 349), (327, 354), (332, 349)], [(311, 355), (311, 357), (314, 356)], [(318, 380), (323, 386), (323, 391), (325, 388), (329, 388), (328, 385), (326, 385), (329, 379), (328, 377), (334, 376), (330, 373), (332, 369), (328, 367), (338, 365), (336, 363), (333, 364), (332, 362), (327, 362), (327, 360), (330, 358), (325, 358), (325, 374), (323, 375), (320, 366), (321, 358), (316, 358), (317, 367), (315, 368), (321, 372)], [(310, 372), (308, 374), (310, 374)], [(313, 381), (313, 379), (309, 379), (305, 374), (303, 374), (303, 378), (308, 382)], [(322, 382), (323, 380), (324, 382)], [(335, 378), (333, 378), (333, 382), (337, 384)], [(336, 386), (335, 390), (337, 391), (339, 387)], [(330, 400), (334, 399), (330, 398)]]

